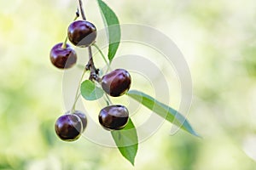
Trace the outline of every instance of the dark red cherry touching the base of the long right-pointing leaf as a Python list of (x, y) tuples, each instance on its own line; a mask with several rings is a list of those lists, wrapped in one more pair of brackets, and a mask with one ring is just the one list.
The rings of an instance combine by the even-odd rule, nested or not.
[(113, 97), (125, 94), (131, 87), (131, 76), (124, 69), (116, 69), (102, 77), (103, 90)]

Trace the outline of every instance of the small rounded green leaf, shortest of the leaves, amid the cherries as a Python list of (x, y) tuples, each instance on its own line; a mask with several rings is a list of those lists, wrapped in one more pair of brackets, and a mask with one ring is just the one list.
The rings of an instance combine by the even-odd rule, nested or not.
[(102, 88), (96, 87), (95, 83), (91, 82), (90, 80), (85, 80), (82, 82), (80, 90), (84, 99), (87, 100), (100, 99), (104, 94)]

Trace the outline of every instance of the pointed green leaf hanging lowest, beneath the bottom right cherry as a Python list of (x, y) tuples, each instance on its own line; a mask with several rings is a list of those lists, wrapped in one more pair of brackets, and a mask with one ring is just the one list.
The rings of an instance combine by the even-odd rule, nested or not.
[(122, 130), (111, 132), (115, 144), (120, 153), (134, 166), (135, 156), (137, 155), (137, 130), (129, 119), (128, 124)]

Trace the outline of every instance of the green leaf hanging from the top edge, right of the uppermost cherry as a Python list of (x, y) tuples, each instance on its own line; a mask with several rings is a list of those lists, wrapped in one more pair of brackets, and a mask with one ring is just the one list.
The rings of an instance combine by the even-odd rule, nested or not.
[(121, 39), (121, 29), (119, 26), (119, 19), (113, 10), (108, 7), (106, 3), (102, 0), (97, 0), (99, 7), (102, 12), (102, 18), (105, 23), (105, 26), (108, 26), (108, 59), (109, 62), (113, 60), (114, 55), (116, 54), (119, 48), (119, 42)]

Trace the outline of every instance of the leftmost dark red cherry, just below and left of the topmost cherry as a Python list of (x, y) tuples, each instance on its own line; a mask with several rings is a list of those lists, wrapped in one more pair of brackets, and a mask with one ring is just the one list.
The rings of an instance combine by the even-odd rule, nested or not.
[(69, 44), (62, 48), (62, 42), (51, 48), (49, 58), (51, 63), (60, 69), (71, 68), (77, 62), (76, 52)]

